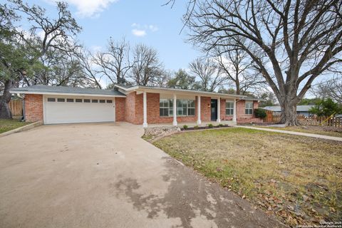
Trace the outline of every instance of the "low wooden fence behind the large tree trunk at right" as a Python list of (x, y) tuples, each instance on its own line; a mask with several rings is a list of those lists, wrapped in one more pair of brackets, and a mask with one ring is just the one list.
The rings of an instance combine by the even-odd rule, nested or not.
[[(335, 128), (342, 128), (342, 118), (327, 118), (324, 116), (311, 116), (306, 117), (304, 115), (298, 115), (297, 119), (301, 125), (314, 125), (314, 126), (330, 126)], [(280, 113), (273, 113), (272, 111), (266, 110), (266, 118), (264, 123), (278, 123), (280, 121)]]

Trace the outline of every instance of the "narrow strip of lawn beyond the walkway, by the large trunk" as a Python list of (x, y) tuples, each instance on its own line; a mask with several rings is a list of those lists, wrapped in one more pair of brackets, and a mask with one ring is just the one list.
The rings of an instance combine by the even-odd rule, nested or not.
[(271, 128), (271, 129), (276, 129), (276, 130), (289, 130), (289, 131), (296, 131), (299, 133), (328, 135), (328, 136), (333, 136), (333, 137), (342, 137), (342, 128), (333, 128), (333, 127), (327, 127), (327, 126), (301, 125), (301, 126), (288, 126), (285, 128), (266, 127), (266, 126), (254, 126), (254, 127)]

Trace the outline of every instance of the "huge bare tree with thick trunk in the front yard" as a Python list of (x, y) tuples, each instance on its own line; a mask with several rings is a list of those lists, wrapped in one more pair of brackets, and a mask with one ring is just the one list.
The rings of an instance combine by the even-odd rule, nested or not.
[(217, 46), (246, 51), (279, 100), (280, 123), (297, 125), (296, 104), (318, 76), (342, 61), (341, 0), (197, 0), (195, 5), (185, 15), (190, 40), (204, 51)]

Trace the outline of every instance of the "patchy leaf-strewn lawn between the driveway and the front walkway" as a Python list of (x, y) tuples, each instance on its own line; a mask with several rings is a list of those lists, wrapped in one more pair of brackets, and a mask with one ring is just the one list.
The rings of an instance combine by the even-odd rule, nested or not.
[(341, 221), (341, 142), (228, 128), (154, 145), (286, 224)]

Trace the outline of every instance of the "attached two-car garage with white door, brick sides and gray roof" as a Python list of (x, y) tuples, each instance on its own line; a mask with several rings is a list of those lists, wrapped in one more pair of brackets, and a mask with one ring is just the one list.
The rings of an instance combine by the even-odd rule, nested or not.
[[(34, 85), (14, 88), (24, 94), (24, 118), (44, 124), (115, 122), (115, 98), (125, 98), (118, 90)], [(122, 108), (122, 107), (121, 107)]]

